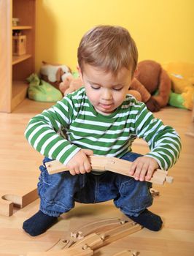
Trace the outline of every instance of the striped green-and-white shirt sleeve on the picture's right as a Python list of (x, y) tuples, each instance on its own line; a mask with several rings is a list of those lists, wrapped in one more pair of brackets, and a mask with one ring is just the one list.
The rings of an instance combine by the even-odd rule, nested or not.
[(165, 126), (163, 122), (154, 118), (144, 104), (139, 108), (139, 114), (134, 123), (138, 138), (146, 140), (150, 148), (147, 157), (154, 158), (161, 169), (168, 170), (179, 158), (181, 142), (174, 128)]

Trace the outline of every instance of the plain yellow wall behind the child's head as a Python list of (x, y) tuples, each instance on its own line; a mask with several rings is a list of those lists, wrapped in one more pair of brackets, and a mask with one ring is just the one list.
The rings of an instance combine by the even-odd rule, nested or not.
[(37, 0), (36, 71), (41, 61), (75, 70), (82, 34), (97, 24), (127, 28), (139, 61), (194, 62), (193, 0)]

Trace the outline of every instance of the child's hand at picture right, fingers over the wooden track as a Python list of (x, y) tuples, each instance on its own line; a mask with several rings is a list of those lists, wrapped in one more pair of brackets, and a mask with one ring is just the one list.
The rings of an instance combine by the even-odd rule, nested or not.
[(158, 162), (151, 157), (138, 157), (131, 165), (129, 174), (134, 176), (136, 181), (150, 180), (155, 169), (158, 169)]

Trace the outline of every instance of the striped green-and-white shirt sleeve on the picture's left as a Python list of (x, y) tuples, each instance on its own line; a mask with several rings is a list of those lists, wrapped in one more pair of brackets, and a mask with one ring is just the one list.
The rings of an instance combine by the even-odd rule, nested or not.
[(66, 98), (52, 108), (44, 110), (29, 121), (25, 136), (36, 151), (64, 165), (81, 148), (66, 140), (63, 129), (68, 129), (73, 115), (71, 102)]

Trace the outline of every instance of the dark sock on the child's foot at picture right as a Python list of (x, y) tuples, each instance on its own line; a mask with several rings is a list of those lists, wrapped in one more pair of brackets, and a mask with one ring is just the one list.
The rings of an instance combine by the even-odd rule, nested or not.
[(160, 216), (153, 214), (151, 211), (145, 209), (138, 217), (129, 216), (134, 222), (140, 224), (143, 227), (148, 228), (152, 231), (158, 231), (163, 225), (163, 221)]

